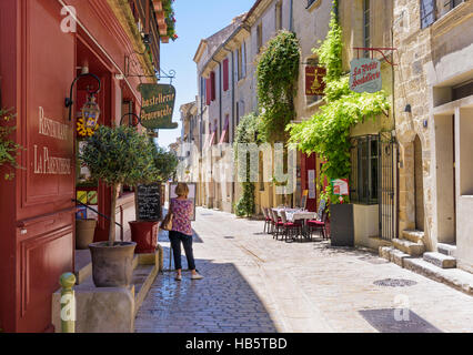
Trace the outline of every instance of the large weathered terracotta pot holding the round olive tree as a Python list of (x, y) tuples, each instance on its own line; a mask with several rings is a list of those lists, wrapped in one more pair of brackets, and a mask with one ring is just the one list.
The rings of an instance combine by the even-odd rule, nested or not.
[(131, 284), (137, 243), (108, 242), (89, 245), (92, 255), (92, 277), (97, 287), (125, 287)]

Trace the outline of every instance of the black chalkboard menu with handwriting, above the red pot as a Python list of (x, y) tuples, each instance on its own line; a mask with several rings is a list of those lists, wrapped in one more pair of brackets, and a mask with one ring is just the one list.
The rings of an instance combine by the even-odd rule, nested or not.
[(160, 184), (138, 185), (137, 214), (139, 221), (158, 222), (162, 220)]

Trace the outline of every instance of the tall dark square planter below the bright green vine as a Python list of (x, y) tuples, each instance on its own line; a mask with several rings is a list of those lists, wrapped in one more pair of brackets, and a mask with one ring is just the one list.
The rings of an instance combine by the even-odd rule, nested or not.
[(353, 204), (330, 205), (332, 246), (354, 246)]

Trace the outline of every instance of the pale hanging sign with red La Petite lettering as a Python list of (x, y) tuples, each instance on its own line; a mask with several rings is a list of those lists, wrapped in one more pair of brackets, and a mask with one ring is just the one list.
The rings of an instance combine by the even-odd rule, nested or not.
[(378, 59), (369, 58), (353, 59), (350, 71), (350, 90), (374, 93), (381, 89), (381, 62)]

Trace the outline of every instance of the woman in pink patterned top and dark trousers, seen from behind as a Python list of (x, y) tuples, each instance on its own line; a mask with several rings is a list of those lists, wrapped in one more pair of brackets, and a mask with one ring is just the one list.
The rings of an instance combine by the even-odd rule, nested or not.
[(171, 247), (174, 253), (174, 265), (178, 271), (175, 280), (181, 281), (182, 278), (181, 242), (184, 246), (189, 270), (192, 272), (191, 278), (201, 280), (203, 276), (199, 275), (195, 271), (195, 261), (192, 251), (191, 216), (193, 213), (193, 203), (191, 200), (188, 200), (188, 184), (179, 183), (175, 187), (175, 194), (178, 197), (171, 199), (169, 207), (169, 211), (173, 214), (172, 231), (169, 232), (169, 240), (171, 241)]

